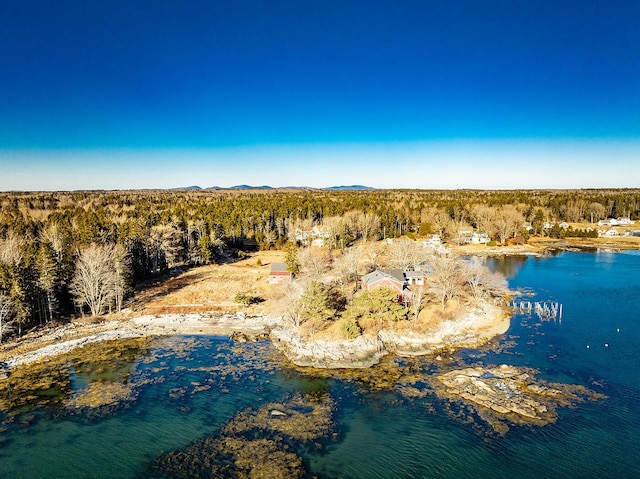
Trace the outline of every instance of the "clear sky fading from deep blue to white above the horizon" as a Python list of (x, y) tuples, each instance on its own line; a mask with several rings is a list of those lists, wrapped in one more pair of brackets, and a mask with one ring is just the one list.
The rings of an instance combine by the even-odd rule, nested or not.
[(5, 0), (0, 191), (640, 187), (637, 0)]

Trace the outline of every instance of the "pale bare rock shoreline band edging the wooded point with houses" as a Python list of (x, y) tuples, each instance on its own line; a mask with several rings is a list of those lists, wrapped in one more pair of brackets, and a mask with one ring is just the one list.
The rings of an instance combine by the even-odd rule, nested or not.
[[(504, 334), (510, 316), (501, 307), (485, 303), (454, 320), (443, 321), (425, 333), (381, 330), (376, 337), (347, 339), (305, 339), (284, 327), (280, 316), (194, 313), (145, 315), (98, 324), (73, 324), (54, 328), (45, 336), (31, 339), (26, 352), (0, 356), (5, 371), (45, 360), (92, 343), (135, 337), (207, 335), (231, 339), (269, 338), (274, 346), (298, 366), (322, 369), (368, 368), (387, 354), (423, 356), (444, 347), (475, 347)], [(68, 338), (65, 340), (65, 338)]]

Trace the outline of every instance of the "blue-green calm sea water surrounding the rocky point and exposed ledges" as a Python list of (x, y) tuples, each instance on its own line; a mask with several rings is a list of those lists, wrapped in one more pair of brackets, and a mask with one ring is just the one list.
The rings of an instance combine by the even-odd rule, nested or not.
[[(118, 366), (115, 376), (132, 391), (127, 399), (92, 410), (64, 407), (63, 398), (0, 413), (0, 477), (177, 477), (154, 468), (154, 459), (217, 437), (240, 411), (302, 392), (334, 401), (330, 437), (291, 445), (309, 477), (640, 478), (640, 255), (489, 261), (525, 293), (521, 299), (558, 302), (562, 317), (516, 314), (492, 350), (461, 351), (458, 364), (526, 366), (605, 399), (561, 408), (547, 426), (510, 425), (498, 434), (435, 394), (288, 368), (268, 342), (164, 338)], [(393, 365), (439, 367), (424, 359)], [(77, 369), (66, 373), (67, 396), (95, 381)]]

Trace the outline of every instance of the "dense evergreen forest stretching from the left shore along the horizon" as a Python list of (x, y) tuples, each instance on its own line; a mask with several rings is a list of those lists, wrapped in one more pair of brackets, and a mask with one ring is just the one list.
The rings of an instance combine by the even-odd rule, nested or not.
[[(0, 193), (0, 341), (74, 314), (119, 310), (149, 278), (284, 249), (314, 225), (329, 232), (327, 248), (344, 249), (403, 235), (455, 242), (470, 228), (499, 244), (526, 242), (585, 234), (544, 228), (549, 222), (639, 216), (638, 189)], [(104, 280), (89, 291), (95, 275)]]

